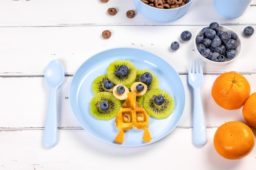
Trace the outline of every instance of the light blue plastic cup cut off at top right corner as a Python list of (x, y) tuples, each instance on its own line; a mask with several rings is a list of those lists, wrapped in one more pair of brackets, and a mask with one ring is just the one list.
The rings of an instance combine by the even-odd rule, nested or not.
[(239, 17), (243, 15), (252, 0), (214, 0), (214, 7), (224, 17)]

